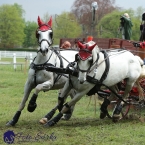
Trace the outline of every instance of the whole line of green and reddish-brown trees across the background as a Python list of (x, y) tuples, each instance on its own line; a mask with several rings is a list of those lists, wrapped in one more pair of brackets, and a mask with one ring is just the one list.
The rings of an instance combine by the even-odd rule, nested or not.
[[(115, 0), (96, 0), (98, 8), (92, 24), (91, 3), (94, 0), (75, 0), (70, 12), (53, 15), (54, 44), (60, 38), (121, 38), (119, 31), (120, 17), (127, 12), (132, 20), (132, 37), (138, 41), (140, 37), (141, 16), (144, 8), (137, 10), (123, 9), (115, 6)], [(0, 48), (36, 48), (38, 47), (35, 32), (36, 22), (24, 19), (25, 10), (17, 3), (0, 6)], [(44, 14), (42, 20), (47, 22), (51, 14)]]

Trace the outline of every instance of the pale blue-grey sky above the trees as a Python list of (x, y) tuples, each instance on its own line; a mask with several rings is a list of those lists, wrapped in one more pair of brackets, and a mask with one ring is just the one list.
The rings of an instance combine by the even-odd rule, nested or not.
[[(70, 11), (75, 0), (0, 0), (0, 5), (18, 3), (25, 10), (25, 19), (37, 21), (38, 15), (60, 14), (63, 11)], [(95, 1), (95, 0), (94, 0)], [(145, 8), (145, 0), (116, 0), (115, 5), (125, 9), (136, 10), (139, 6)]]

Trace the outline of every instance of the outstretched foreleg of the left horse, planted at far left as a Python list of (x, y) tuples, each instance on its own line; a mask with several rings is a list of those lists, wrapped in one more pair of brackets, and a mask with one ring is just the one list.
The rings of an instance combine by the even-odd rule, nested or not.
[(21, 101), (21, 103), (19, 105), (19, 109), (15, 113), (13, 119), (6, 123), (6, 126), (14, 126), (18, 122), (18, 120), (20, 118), (20, 115), (21, 115), (21, 111), (24, 109), (26, 101), (28, 100), (30, 92), (31, 92), (31, 90), (33, 88), (34, 87), (33, 87), (32, 83), (31, 83), (31, 81), (27, 80), (27, 82), (25, 84), (25, 87), (24, 87), (24, 96), (23, 96), (23, 99), (22, 99), (22, 101)]

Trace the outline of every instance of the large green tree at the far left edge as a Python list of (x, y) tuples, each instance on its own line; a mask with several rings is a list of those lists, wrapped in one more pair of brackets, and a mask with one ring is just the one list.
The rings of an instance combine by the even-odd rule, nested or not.
[[(21, 47), (24, 34), (24, 20), (21, 6), (2, 5), (0, 6), (0, 40), (1, 47)], [(22, 12), (22, 11), (21, 11)]]

